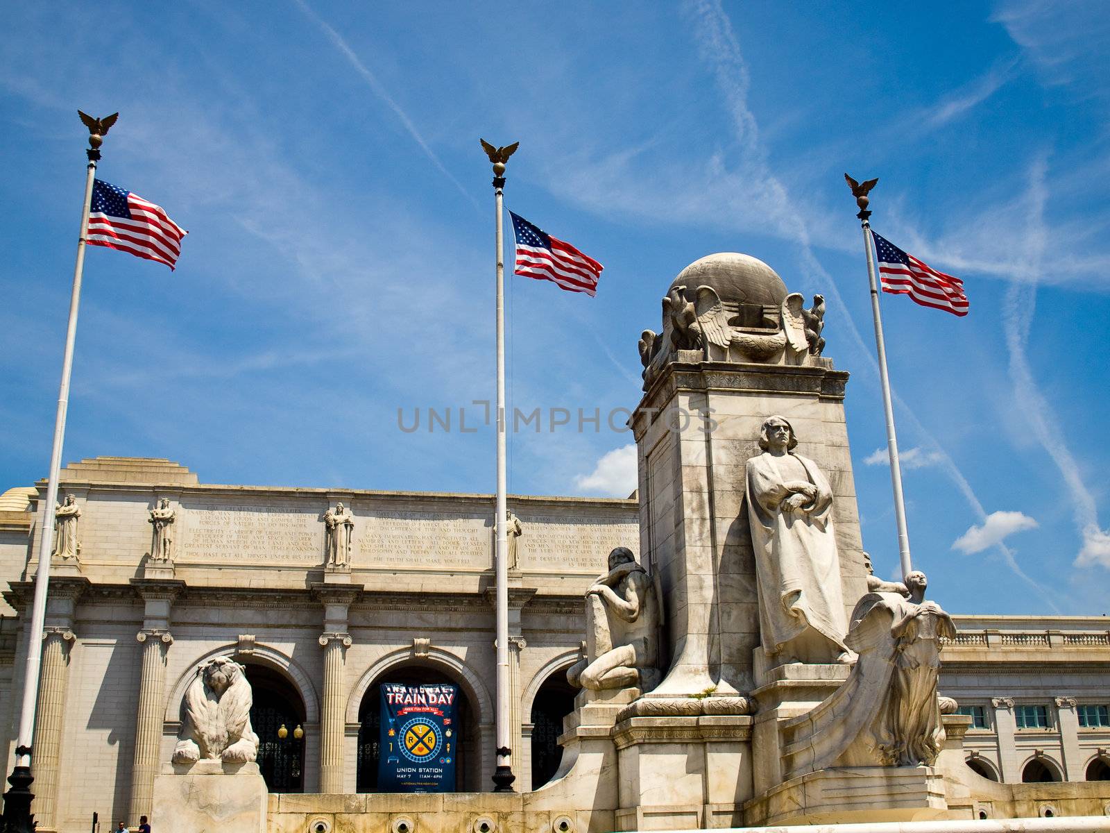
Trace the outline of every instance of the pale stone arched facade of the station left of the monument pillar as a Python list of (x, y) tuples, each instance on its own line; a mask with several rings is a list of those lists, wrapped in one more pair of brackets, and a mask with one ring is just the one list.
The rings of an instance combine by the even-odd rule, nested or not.
[[(218, 655), (278, 675), (300, 701), (304, 792), (356, 792), (364, 697), (402, 670), (460, 685), (470, 723), (460, 786), (492, 787), (492, 496), (209, 485), (168, 461), (111, 458), (68, 466), (61, 490), (81, 509), (81, 560), (51, 578), (44, 673), (58, 682), (39, 707), (37, 784), (51, 787), (37, 799), (40, 830), (84, 830), (94, 811), (130, 821), (148, 812), (185, 689)], [(151, 555), (149, 521), (162, 499), (175, 513), (169, 561)], [(23, 502), (0, 518), (9, 761), (43, 510), (40, 499)], [(346, 569), (326, 562), (323, 519), (336, 502), (353, 513)], [(636, 549), (637, 504), (511, 496), (509, 505), (525, 530), (509, 573), (509, 633), (516, 783), (528, 789), (533, 701), (545, 682), (565, 689), (583, 593), (609, 550)]]

